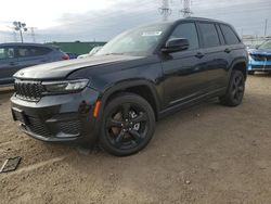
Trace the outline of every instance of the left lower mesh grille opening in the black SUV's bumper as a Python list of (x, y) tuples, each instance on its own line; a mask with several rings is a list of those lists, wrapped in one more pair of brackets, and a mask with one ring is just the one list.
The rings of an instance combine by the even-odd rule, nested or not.
[(41, 119), (28, 116), (27, 120), (27, 128), (29, 128), (31, 132), (47, 138), (52, 137), (52, 133)]

